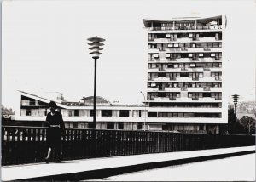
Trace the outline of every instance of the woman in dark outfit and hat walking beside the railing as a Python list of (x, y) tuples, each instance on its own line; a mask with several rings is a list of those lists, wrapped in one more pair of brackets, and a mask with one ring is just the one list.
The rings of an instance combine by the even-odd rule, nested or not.
[(61, 112), (56, 111), (57, 105), (54, 101), (49, 102), (50, 112), (46, 117), (46, 143), (48, 145), (48, 153), (44, 158), (46, 163), (49, 163), (49, 156), (53, 149), (56, 153), (56, 162), (61, 162), (61, 137), (65, 134), (65, 125)]

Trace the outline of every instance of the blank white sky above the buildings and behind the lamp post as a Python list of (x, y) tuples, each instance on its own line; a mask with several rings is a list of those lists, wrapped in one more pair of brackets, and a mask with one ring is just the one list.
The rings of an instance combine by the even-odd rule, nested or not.
[[(255, 1), (3, 1), (2, 102), (15, 90), (93, 95), (93, 60), (88, 37), (106, 39), (97, 63), (97, 95), (140, 103), (146, 93), (147, 38), (143, 19), (215, 16), (228, 18), (225, 53), (227, 92), (255, 100)], [(227, 61), (227, 60), (223, 60)]]

